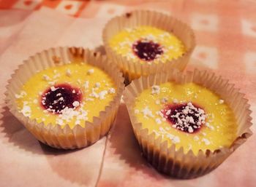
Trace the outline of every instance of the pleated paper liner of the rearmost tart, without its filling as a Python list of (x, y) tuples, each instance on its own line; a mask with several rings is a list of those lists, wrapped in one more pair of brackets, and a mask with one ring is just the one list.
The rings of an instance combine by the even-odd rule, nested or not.
[[(124, 31), (125, 28), (134, 28), (139, 25), (151, 25), (155, 28), (174, 33), (175, 36), (178, 36), (178, 39), (183, 41), (187, 52), (176, 60), (169, 60), (165, 63), (140, 63), (139, 60), (128, 60), (126, 56), (117, 54), (110, 47), (109, 39), (120, 31)], [(121, 68), (127, 81), (132, 81), (132, 79), (151, 73), (170, 70), (170, 68), (178, 68), (180, 71), (183, 71), (195, 48), (195, 35), (187, 24), (160, 12), (145, 10), (137, 10), (114, 17), (105, 25), (102, 38), (108, 57)]]

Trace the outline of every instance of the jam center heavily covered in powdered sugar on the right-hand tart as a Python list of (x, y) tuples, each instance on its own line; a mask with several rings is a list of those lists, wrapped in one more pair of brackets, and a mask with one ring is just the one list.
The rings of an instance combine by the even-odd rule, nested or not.
[(206, 123), (206, 112), (194, 103), (170, 104), (162, 111), (173, 128), (193, 133)]

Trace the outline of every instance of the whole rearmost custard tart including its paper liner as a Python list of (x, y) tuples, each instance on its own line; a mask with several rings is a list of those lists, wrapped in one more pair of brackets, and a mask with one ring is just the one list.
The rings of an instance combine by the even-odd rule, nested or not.
[(152, 11), (114, 17), (105, 25), (103, 41), (108, 57), (121, 68), (127, 82), (170, 68), (182, 71), (195, 48), (188, 25)]

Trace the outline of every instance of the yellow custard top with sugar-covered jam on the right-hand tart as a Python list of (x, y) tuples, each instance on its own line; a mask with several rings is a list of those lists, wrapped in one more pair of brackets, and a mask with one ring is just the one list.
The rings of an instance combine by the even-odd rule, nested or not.
[[(187, 108), (177, 112), (177, 106)], [(193, 108), (197, 114), (193, 114)], [(167, 140), (168, 146), (175, 143), (176, 150), (183, 147), (185, 153), (190, 149), (197, 154), (200, 149), (214, 151), (229, 147), (236, 139), (237, 124), (231, 108), (214, 92), (194, 83), (167, 82), (145, 89), (136, 98), (134, 110), (143, 128)], [(199, 116), (199, 128), (189, 116), (191, 111)], [(192, 124), (197, 129), (189, 127)]]

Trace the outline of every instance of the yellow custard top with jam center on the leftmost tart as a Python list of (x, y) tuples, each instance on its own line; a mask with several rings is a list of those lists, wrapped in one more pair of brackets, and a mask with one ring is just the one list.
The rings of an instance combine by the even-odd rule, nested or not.
[(47, 68), (32, 76), (15, 95), (18, 111), (37, 123), (74, 127), (93, 122), (116, 95), (107, 73), (86, 63)]

